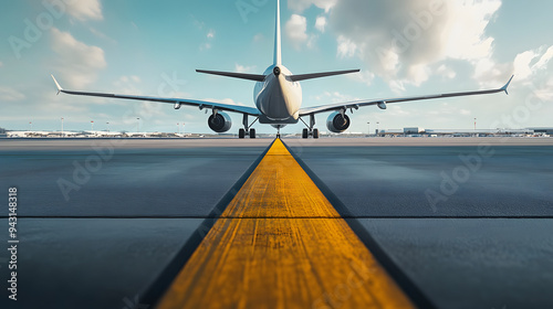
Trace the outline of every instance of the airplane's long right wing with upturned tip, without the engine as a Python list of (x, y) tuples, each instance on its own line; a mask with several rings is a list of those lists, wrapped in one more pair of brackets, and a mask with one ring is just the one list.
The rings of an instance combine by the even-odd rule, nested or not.
[(437, 95), (426, 95), (426, 96), (414, 96), (414, 97), (398, 97), (398, 98), (380, 98), (380, 99), (369, 99), (369, 100), (355, 100), (347, 103), (337, 103), (337, 104), (328, 104), (315, 107), (305, 107), (300, 109), (300, 116), (307, 116), (313, 114), (320, 114), (325, 111), (348, 109), (348, 108), (359, 108), (363, 106), (378, 105), (379, 108), (386, 109), (386, 105), (388, 103), (399, 103), (399, 102), (409, 102), (409, 100), (422, 100), (422, 99), (434, 99), (434, 98), (445, 98), (445, 97), (457, 97), (457, 96), (473, 96), (473, 95), (486, 95), (486, 94), (495, 94), (504, 92), (509, 94), (507, 88), (511, 84), (514, 75), (511, 76), (511, 79), (501, 88), (489, 89), (489, 90), (478, 90), (478, 92), (465, 92), (465, 93), (449, 93), (449, 94), (437, 94)]

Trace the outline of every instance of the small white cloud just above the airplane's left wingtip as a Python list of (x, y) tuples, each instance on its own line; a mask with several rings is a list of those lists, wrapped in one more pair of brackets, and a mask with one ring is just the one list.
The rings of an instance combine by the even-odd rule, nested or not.
[(71, 33), (55, 28), (52, 33), (52, 50), (59, 56), (59, 70), (66, 83), (83, 88), (96, 79), (97, 72), (106, 67), (104, 51), (77, 41)]

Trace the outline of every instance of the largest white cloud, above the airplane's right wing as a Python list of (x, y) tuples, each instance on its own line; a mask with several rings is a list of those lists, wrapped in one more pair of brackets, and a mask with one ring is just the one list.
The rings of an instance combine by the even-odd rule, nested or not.
[[(491, 63), (493, 76), (502, 75), (508, 67), (492, 61), (493, 38), (486, 33), (500, 7), (500, 0), (342, 0), (331, 7), (327, 22), (337, 33), (340, 57), (359, 57), (400, 92), (405, 84), (427, 81), (436, 73), (432, 67), (439, 70), (435, 64), (447, 60), (488, 68)], [(455, 77), (450, 70), (439, 74)]]

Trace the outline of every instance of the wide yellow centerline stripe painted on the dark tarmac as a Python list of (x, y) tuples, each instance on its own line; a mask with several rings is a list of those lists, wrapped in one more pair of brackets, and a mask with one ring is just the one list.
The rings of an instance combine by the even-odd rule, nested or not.
[(338, 216), (276, 139), (157, 308), (414, 308)]

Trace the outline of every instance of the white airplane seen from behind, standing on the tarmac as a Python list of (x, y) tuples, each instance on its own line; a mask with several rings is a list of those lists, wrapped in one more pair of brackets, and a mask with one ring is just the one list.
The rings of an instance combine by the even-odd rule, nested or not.
[[(349, 110), (353, 113), (354, 109), (358, 109), (364, 106), (376, 105), (380, 109), (386, 109), (387, 104), (400, 103), (400, 102), (413, 102), (413, 100), (424, 100), (424, 99), (435, 99), (435, 98), (446, 98), (446, 97), (457, 97), (457, 96), (472, 96), (472, 95), (484, 95), (504, 92), (508, 93), (508, 87), (511, 84), (514, 75), (511, 76), (509, 82), (501, 88), (488, 89), (488, 90), (474, 90), (474, 92), (462, 92), (462, 93), (447, 93), (447, 94), (436, 94), (426, 96), (414, 96), (414, 97), (397, 97), (397, 98), (380, 98), (380, 99), (367, 99), (367, 100), (356, 100), (346, 102), (338, 104), (328, 104), (315, 107), (302, 108), (302, 87), (300, 82), (335, 76), (342, 74), (357, 73), (361, 70), (346, 70), (336, 72), (320, 72), (311, 74), (292, 74), (282, 64), (282, 53), (281, 53), (281, 21), (280, 21), (280, 0), (276, 0), (276, 18), (275, 18), (275, 33), (274, 33), (274, 54), (273, 64), (270, 65), (263, 74), (246, 74), (246, 73), (232, 73), (232, 72), (218, 72), (218, 71), (207, 71), (207, 70), (196, 70), (198, 73), (212, 74), (232, 78), (241, 78), (247, 81), (255, 82), (253, 89), (253, 97), (255, 107), (239, 106), (232, 104), (221, 104), (206, 100), (186, 99), (186, 98), (163, 98), (163, 97), (150, 97), (150, 96), (134, 96), (134, 95), (117, 95), (117, 94), (106, 94), (106, 93), (88, 93), (88, 92), (75, 92), (63, 89), (53, 75), (55, 86), (58, 87), (58, 95), (60, 93), (69, 95), (80, 95), (80, 96), (94, 96), (94, 97), (108, 97), (108, 98), (122, 98), (132, 100), (148, 100), (148, 102), (159, 102), (173, 104), (175, 109), (179, 109), (182, 105), (195, 106), (200, 110), (211, 109), (211, 116), (208, 119), (208, 126), (215, 132), (226, 132), (231, 126), (232, 121), (227, 113), (237, 113), (242, 115), (243, 128), (239, 129), (238, 137), (244, 138), (249, 136), (250, 138), (255, 138), (255, 129), (252, 126), (259, 121), (263, 125), (271, 125), (278, 129), (278, 136), (280, 137), (280, 129), (286, 125), (298, 124), (300, 120), (305, 125), (302, 132), (302, 138), (319, 138), (319, 129), (315, 128), (315, 115), (321, 113), (332, 113), (326, 119), (326, 127), (331, 132), (344, 132), (349, 128), (351, 120), (346, 113)], [(249, 117), (254, 117), (252, 122), (249, 121)], [(304, 118), (309, 117), (309, 122), (304, 121)]]

